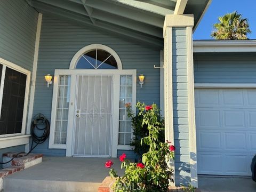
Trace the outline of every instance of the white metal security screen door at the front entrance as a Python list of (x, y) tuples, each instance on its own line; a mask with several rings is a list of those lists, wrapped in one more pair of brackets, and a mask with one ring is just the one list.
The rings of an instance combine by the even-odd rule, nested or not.
[(77, 75), (73, 156), (110, 157), (113, 75)]

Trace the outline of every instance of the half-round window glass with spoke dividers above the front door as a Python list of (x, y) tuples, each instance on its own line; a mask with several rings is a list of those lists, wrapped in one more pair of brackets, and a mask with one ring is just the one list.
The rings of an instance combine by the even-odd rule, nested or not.
[(85, 53), (78, 60), (77, 69), (117, 69), (113, 55), (104, 50), (93, 50)]

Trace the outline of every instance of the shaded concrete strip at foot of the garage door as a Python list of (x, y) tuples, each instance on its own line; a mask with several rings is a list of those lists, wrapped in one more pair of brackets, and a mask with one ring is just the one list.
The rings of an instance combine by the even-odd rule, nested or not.
[(251, 178), (199, 176), (198, 187), (202, 192), (255, 192), (256, 182)]

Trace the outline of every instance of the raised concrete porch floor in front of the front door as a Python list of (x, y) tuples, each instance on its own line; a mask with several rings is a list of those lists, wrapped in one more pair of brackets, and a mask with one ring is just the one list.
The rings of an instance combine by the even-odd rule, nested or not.
[(118, 158), (43, 157), (41, 164), (4, 178), (4, 191), (98, 191), (109, 176), (105, 162), (111, 159), (115, 170), (123, 174)]

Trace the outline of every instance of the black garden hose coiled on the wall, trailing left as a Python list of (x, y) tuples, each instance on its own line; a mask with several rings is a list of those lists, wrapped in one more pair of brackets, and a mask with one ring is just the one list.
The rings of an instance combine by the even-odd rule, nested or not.
[[(44, 126), (41, 127), (41, 126), (38, 126), (38, 125), (41, 125), (41, 126), (44, 125)], [(39, 131), (39, 132), (43, 132), (43, 133), (41, 135), (37, 135), (36, 130)], [(30, 150), (28, 151), (28, 153), (26, 155), (23, 155), (23, 157), (30, 154), (31, 151), (36, 148), (36, 146), (38, 146), (39, 144), (44, 143), (47, 140), (47, 138), (49, 138), (50, 123), (49, 123), (48, 119), (46, 119), (45, 116), (42, 115), (42, 114), (35, 115), (34, 120), (33, 120), (33, 122), (31, 123), (31, 126), (30, 126), (30, 131), (31, 131), (31, 138), (32, 138), (31, 147), (30, 147)], [(36, 143), (36, 145), (33, 147), (34, 143)], [(0, 163), (0, 164), (10, 163), (14, 158), (16, 158), (20, 154), (23, 154), (23, 152), (16, 154), (13, 158), (10, 159), (10, 161), (3, 162), (3, 163)]]

